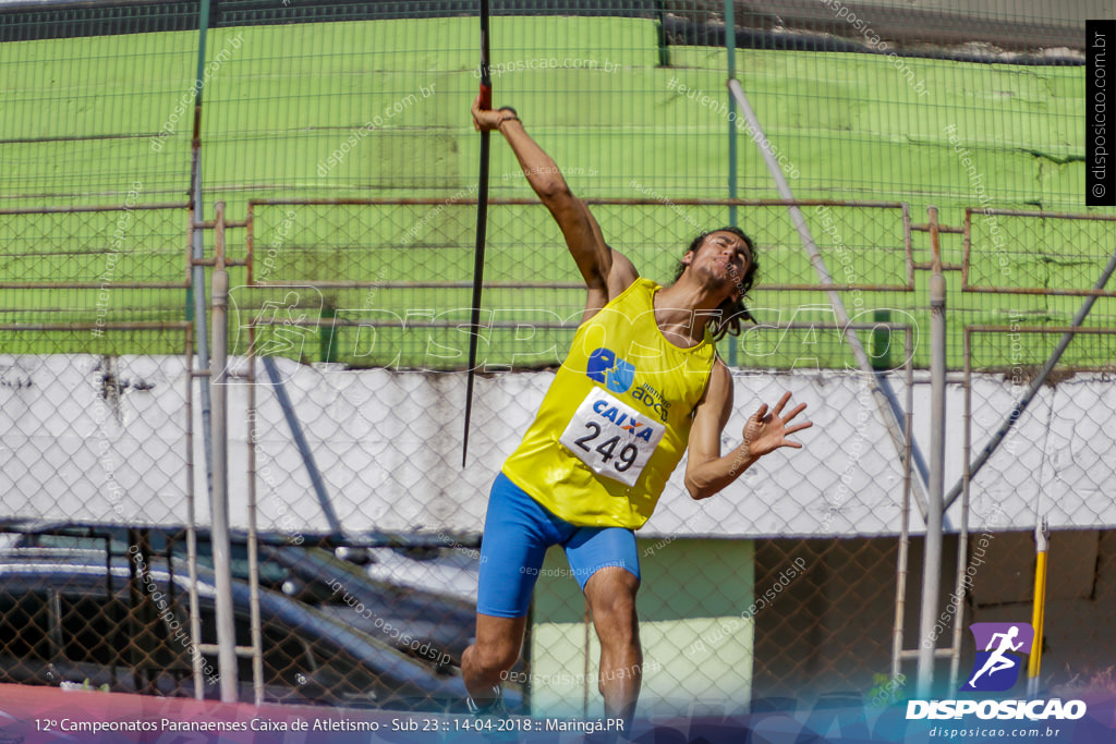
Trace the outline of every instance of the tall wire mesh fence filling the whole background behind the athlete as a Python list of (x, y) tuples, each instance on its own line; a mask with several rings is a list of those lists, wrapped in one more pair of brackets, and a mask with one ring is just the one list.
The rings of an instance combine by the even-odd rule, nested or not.
[[(668, 282), (703, 230), (752, 235), (758, 325), (719, 349), (737, 395), (723, 444), (783, 389), (815, 422), (802, 454), (718, 499), (696, 504), (673, 480), (639, 533), (644, 709), (906, 694), (935, 240), (956, 484), (940, 646), (956, 617), (1029, 617), (1028, 531), (1048, 516), (1043, 685), (1103, 680), (1116, 356), (1114, 292), (1094, 288), (1110, 215), (1027, 211), (1080, 205), (1067, 103), (1078, 19), (956, 3), (912, 20), (877, 3), (858, 26), (828, 2), (606, 4), (498, 12), (497, 103), (520, 109), (641, 273)], [(125, 10), (2, 11), (0, 680), (217, 698), (223, 641), (244, 702), (461, 713), (488, 489), (584, 307), (559, 231), (497, 147), (462, 467), (473, 9), (214, 3), (204, 55), (196, 3)], [(723, 90), (727, 47), (763, 136)], [(772, 199), (764, 143), (797, 201)], [(184, 203), (198, 192), (204, 207)], [(217, 200), (224, 212), (204, 222)], [(230, 363), (208, 370), (193, 300), (210, 288), (192, 268), (218, 263), (218, 232)], [(231, 639), (217, 630), (209, 531), (217, 371), (229, 375)], [(516, 711), (600, 712), (570, 579), (551, 554), (509, 676)], [(937, 677), (963, 673), (972, 650), (956, 641)]]

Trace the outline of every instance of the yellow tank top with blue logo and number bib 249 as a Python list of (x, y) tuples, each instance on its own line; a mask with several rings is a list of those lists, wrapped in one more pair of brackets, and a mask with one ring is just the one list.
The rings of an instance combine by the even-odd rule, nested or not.
[(671, 344), (655, 322), (662, 289), (636, 279), (583, 323), (522, 443), (512, 483), (579, 526), (637, 530), (690, 437), (716, 347)]

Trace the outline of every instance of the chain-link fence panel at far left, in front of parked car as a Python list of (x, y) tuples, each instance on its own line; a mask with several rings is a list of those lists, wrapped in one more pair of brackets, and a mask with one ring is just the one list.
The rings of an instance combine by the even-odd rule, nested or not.
[(190, 572), (144, 537), (193, 519), (189, 213), (141, 194), (3, 211), (4, 682), (194, 687)]

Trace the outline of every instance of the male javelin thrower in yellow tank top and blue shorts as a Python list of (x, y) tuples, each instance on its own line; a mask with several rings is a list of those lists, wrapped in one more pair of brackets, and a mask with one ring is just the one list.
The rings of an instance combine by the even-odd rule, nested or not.
[(756, 248), (735, 228), (700, 235), (676, 281), (642, 279), (610, 249), (585, 203), (523, 129), (514, 109), (482, 110), (478, 129), (500, 132), (561, 228), (588, 300), (573, 348), (519, 448), (489, 497), (481, 547), (477, 641), (462, 674), (475, 714), (502, 713), (500, 680), (519, 658), (527, 609), (547, 548), (561, 545), (600, 639), (599, 689), (608, 717), (631, 722), (642, 650), (634, 530), (651, 516), (689, 447), (685, 484), (706, 499), (779, 447), (806, 408), (783, 414), (785, 394), (748, 421), (743, 442), (721, 456), (732, 413), (732, 378), (714, 341), (749, 318), (742, 298), (757, 272)]

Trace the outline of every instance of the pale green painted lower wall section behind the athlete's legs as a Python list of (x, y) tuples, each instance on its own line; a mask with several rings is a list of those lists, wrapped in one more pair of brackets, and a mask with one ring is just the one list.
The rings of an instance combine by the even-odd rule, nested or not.
[[(637, 542), (643, 584), (636, 599), (644, 655), (641, 709), (663, 715), (745, 712), (754, 628), (741, 613), (753, 598), (753, 543)], [(603, 716), (597, 692), (600, 646), (584, 621), (585, 598), (558, 549), (547, 553), (532, 618), (532, 715)]]

